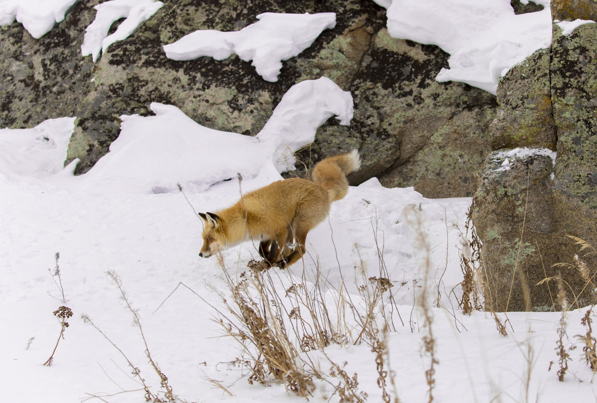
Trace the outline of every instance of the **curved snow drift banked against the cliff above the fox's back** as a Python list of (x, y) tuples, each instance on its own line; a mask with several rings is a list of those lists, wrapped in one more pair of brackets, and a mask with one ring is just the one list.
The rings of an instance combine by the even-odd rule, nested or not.
[(291, 87), (256, 137), (205, 128), (174, 106), (150, 108), (156, 116), (121, 116), (122, 131), (110, 153), (87, 174), (94, 187), (167, 193), (177, 192), (180, 183), (205, 191), (237, 172), (245, 179), (277, 177), (294, 169), (294, 151), (312, 142), (328, 118), (348, 125), (353, 113), (350, 92), (325, 77)]

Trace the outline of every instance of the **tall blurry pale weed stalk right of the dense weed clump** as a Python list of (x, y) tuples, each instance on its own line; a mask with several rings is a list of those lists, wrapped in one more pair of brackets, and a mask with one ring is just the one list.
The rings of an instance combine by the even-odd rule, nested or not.
[(423, 230), (423, 215), (416, 209), (415, 206), (407, 206), (402, 210), (402, 216), (405, 221), (415, 232), (415, 240), (413, 247), (423, 252), (423, 258), (419, 266), (420, 276), (423, 278), (423, 285), (417, 296), (418, 307), (423, 311), (424, 324), (423, 330), (425, 332), (423, 336), (423, 351), (429, 357), (429, 368), (425, 371), (425, 379), (427, 380), (427, 386), (429, 386), (429, 403), (433, 402), (433, 388), (435, 387), (435, 365), (439, 364), (438, 359), (435, 357), (435, 338), (433, 337), (433, 314), (431, 312), (431, 295), (429, 287), (431, 284), (430, 271), (431, 271), (431, 247), (429, 241)]

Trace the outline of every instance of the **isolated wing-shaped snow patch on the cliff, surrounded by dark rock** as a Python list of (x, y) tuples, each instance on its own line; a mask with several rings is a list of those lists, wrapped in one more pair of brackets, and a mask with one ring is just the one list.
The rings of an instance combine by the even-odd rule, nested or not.
[(278, 81), (282, 61), (297, 56), (311, 46), (324, 29), (336, 26), (336, 13), (263, 13), (240, 31), (197, 30), (170, 45), (166, 56), (173, 60), (193, 60), (202, 56), (224, 60), (237, 54), (251, 63), (257, 74), (270, 82)]

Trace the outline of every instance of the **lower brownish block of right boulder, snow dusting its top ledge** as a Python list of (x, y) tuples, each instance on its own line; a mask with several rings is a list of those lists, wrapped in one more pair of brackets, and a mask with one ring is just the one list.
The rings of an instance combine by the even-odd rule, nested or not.
[[(590, 305), (596, 295), (574, 267), (579, 247), (567, 235), (587, 238), (595, 225), (570, 225), (568, 219), (583, 212), (570, 210), (572, 206), (553, 191), (550, 157), (528, 156), (501, 170), (503, 157), (497, 154), (485, 161), (473, 209), (483, 243), (485, 308), (512, 312), (543, 311), (547, 306), (559, 311), (555, 279), (543, 281), (555, 276), (568, 284), (570, 302), (576, 299), (574, 308)], [(595, 272), (597, 256), (583, 260), (593, 268), (591, 274)], [(556, 263), (571, 266), (553, 266)]]

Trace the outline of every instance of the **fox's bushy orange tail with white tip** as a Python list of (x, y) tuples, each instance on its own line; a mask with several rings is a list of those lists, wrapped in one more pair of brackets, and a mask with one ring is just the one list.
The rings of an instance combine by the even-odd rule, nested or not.
[(316, 182), (330, 195), (331, 201), (342, 199), (348, 193), (346, 175), (361, 168), (358, 150), (326, 158), (313, 168), (313, 182)]

